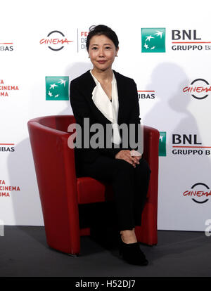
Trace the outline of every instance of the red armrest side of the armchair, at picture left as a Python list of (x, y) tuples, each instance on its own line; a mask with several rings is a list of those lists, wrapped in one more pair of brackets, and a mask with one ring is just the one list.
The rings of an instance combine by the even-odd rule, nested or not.
[[(27, 125), (47, 241), (51, 246), (63, 241), (70, 249), (72, 244), (79, 245), (70, 235), (79, 232), (75, 156), (74, 149), (68, 147), (70, 134), (33, 120)], [(70, 224), (70, 220), (75, 224)]]

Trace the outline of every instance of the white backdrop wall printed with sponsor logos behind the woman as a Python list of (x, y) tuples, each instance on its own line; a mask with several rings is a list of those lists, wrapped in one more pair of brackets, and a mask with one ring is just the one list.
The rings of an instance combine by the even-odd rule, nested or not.
[[(4, 224), (43, 225), (27, 121), (72, 114), (69, 101), (46, 101), (46, 77), (64, 76), (71, 81), (89, 70), (86, 34), (91, 25), (105, 24), (120, 41), (113, 68), (137, 84), (143, 124), (166, 133), (166, 155), (160, 156), (158, 229), (205, 230), (205, 220), (211, 218), (210, 8), (205, 0), (175, 4), (163, 0), (1, 1), (0, 219)], [(163, 53), (141, 51), (141, 29), (152, 27), (155, 32), (165, 28)], [(172, 37), (175, 30), (180, 39), (175, 39), (176, 32)], [(41, 43), (53, 38), (71, 42), (59, 51), (49, 46), (55, 49), (60, 44)], [(176, 41), (183, 43), (173, 44)], [(207, 92), (184, 92), (186, 87), (207, 88)], [(195, 195), (186, 195), (190, 191)]]

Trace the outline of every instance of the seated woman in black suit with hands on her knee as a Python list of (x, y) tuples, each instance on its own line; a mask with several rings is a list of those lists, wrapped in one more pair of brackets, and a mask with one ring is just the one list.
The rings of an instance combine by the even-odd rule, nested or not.
[[(134, 232), (141, 225), (141, 212), (148, 191), (150, 169), (146, 160), (127, 145), (117, 124), (135, 125), (134, 139), (139, 138), (139, 99), (133, 79), (112, 70), (119, 51), (117, 35), (106, 25), (98, 25), (89, 32), (87, 51), (93, 69), (72, 80), (70, 103), (76, 123), (87, 136), (86, 123), (106, 125), (113, 129), (111, 147), (84, 146), (75, 149), (77, 174), (112, 183), (120, 229), (120, 253), (129, 264), (146, 265)], [(104, 131), (103, 131), (104, 132)], [(93, 133), (89, 133), (89, 140)], [(108, 137), (105, 134), (105, 139)], [(128, 136), (127, 136), (128, 138)], [(126, 139), (127, 139), (126, 138)]]

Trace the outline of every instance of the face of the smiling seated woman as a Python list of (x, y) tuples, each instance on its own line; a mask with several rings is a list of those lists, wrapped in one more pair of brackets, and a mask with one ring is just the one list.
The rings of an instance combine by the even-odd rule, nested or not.
[(88, 53), (96, 70), (110, 70), (115, 56), (117, 56), (117, 51), (118, 48), (106, 35), (95, 35), (90, 39)]

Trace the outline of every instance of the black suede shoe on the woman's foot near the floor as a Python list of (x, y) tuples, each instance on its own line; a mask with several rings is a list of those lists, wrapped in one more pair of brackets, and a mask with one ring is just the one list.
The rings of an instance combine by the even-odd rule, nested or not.
[(148, 260), (141, 251), (139, 243), (124, 243), (120, 235), (120, 255), (128, 264), (146, 266)]

